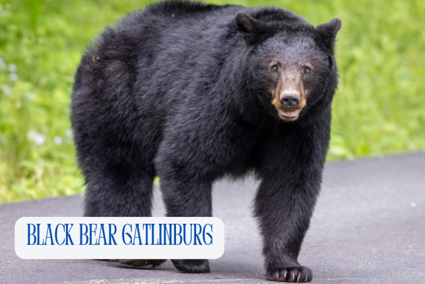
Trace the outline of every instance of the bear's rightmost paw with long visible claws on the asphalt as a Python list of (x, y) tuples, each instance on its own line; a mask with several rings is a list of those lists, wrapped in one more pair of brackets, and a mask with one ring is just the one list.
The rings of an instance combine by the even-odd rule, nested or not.
[(281, 267), (267, 273), (267, 280), (278, 282), (310, 282), (313, 273), (308, 267)]

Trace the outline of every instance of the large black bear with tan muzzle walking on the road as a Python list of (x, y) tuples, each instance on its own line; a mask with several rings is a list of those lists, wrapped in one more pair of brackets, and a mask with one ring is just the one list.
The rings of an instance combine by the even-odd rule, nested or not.
[[(168, 216), (212, 216), (213, 182), (254, 172), (267, 278), (311, 281), (297, 258), (329, 144), (340, 26), (174, 0), (107, 27), (72, 94), (85, 216), (151, 216), (155, 176)], [(208, 260), (172, 262), (210, 272)]]

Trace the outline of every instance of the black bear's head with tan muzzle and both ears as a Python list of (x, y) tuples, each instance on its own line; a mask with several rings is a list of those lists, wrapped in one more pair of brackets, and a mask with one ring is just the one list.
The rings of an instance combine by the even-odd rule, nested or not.
[(247, 47), (246, 82), (270, 114), (293, 122), (330, 105), (338, 81), (334, 45), (340, 19), (314, 28), (276, 9), (238, 13), (236, 24)]

